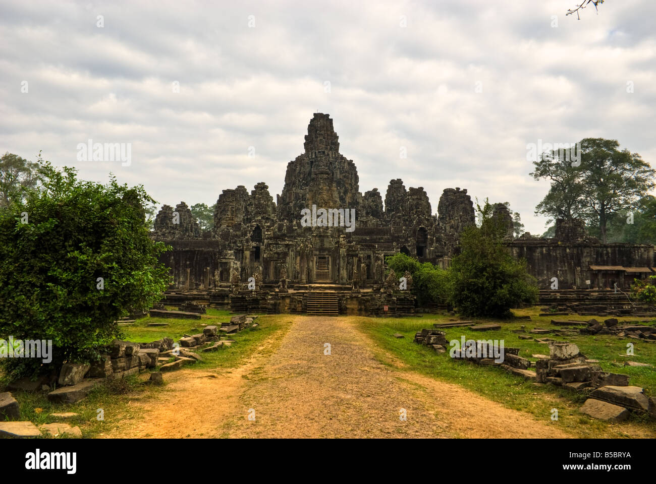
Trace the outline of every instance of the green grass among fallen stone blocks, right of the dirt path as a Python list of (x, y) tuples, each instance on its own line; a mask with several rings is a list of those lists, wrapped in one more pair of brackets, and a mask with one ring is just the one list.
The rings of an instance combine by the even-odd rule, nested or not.
[[(443, 329), (447, 340), (504, 340), (504, 346), (520, 348), (520, 355), (536, 361), (533, 354), (549, 353), (548, 345), (533, 340), (521, 340), (518, 336), (522, 333), (513, 333), (523, 329), (540, 327), (554, 329), (551, 325), (552, 317), (540, 317), (538, 307), (516, 310), (516, 315), (531, 315), (531, 320), (508, 319), (498, 320), (491, 318), (473, 319), (480, 323), (500, 323), (502, 329), (499, 331), (470, 331), (468, 327), (457, 327)], [(570, 319), (588, 319), (587, 317), (573, 317)], [(423, 317), (407, 318), (358, 318), (358, 324), (377, 342), (381, 351), (377, 357), (382, 363), (392, 365), (386, 353), (392, 353), (411, 371), (438, 378), (443, 381), (459, 384), (464, 388), (473, 390), (493, 401), (497, 401), (510, 409), (525, 411), (533, 414), (539, 420), (548, 421), (561, 428), (564, 432), (577, 437), (623, 437), (623, 424), (607, 424), (600, 420), (587, 418), (578, 412), (579, 407), (585, 401), (584, 395), (571, 392), (551, 384), (541, 385), (533, 382), (525, 382), (522, 378), (507, 373), (501, 368), (476, 365), (468, 361), (455, 361), (449, 357), (449, 353), (438, 355), (432, 349), (413, 342), (415, 333), (423, 328), (432, 328), (433, 323), (446, 323), (449, 319), (460, 319), (448, 315), (424, 315)], [(462, 318), (464, 319), (464, 318)], [(567, 319), (558, 316), (554, 319)], [(599, 320), (599, 318), (596, 318)], [(632, 320), (635, 317), (618, 318), (620, 320)], [(403, 334), (403, 338), (395, 338), (394, 333)], [(533, 335), (542, 337), (541, 335)], [(630, 375), (630, 384), (642, 386), (645, 392), (656, 394), (656, 375), (653, 368), (625, 367), (624, 361), (640, 361), (644, 363), (656, 362), (656, 343), (648, 343), (642, 340), (626, 340), (617, 336), (585, 336), (581, 334), (554, 336), (546, 334), (546, 337), (554, 340), (569, 341), (577, 344), (581, 352), (588, 359), (600, 360), (600, 366), (604, 371), (613, 373), (626, 373)], [(634, 343), (634, 357), (621, 357), (619, 353), (626, 352), (626, 343)], [(558, 421), (550, 420), (551, 409), (558, 409)], [(645, 434), (656, 432), (656, 423), (644, 416), (632, 415), (628, 420), (633, 426), (640, 427)]]

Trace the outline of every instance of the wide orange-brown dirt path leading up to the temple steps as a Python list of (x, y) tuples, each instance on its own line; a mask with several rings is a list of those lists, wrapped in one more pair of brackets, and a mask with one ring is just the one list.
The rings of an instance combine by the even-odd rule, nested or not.
[(161, 393), (131, 401), (143, 416), (106, 436), (567, 437), (455, 384), (380, 364), (348, 318), (293, 319), (273, 355), (256, 352), (229, 372), (168, 374)]

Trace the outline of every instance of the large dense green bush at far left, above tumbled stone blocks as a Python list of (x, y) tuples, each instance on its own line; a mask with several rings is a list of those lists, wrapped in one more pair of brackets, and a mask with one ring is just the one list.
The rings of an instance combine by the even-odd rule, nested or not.
[[(159, 300), (169, 275), (142, 186), (84, 182), (49, 162), (39, 173), (40, 190), (0, 210), (0, 338), (52, 340), (56, 368), (89, 361), (119, 336), (116, 319)], [(41, 359), (3, 361), (16, 375), (47, 370)]]

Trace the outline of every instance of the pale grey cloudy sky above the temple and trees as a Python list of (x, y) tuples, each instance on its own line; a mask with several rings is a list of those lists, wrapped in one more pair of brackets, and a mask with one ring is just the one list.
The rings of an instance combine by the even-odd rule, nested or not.
[[(361, 192), (402, 178), (436, 212), (467, 188), (542, 233), (527, 144), (612, 138), (656, 167), (656, 2), (576, 3), (1, 1), (0, 150), (160, 204), (275, 200), (319, 111)], [(89, 139), (131, 164), (79, 161)]]

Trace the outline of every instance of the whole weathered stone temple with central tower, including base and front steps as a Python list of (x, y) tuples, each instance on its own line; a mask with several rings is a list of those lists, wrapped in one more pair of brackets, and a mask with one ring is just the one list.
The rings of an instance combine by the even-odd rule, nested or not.
[[(199, 229), (184, 202), (162, 207), (152, 234), (173, 247), (163, 256), (172, 276), (167, 300), (268, 313), (414, 312), (411, 281), (400, 291), (403, 274), (386, 279), (384, 259), (403, 252), (449, 266), (460, 233), (475, 223), (467, 190), (446, 188), (433, 214), (424, 189), (405, 188), (398, 178), (390, 180), (383, 205), (377, 188), (360, 192), (356, 165), (340, 153), (327, 114), (310, 119), (303, 147), (287, 164), (275, 202), (264, 182), (251, 193), (244, 186), (223, 190), (211, 231)], [(495, 208), (508, 224), (508, 250), (527, 260), (541, 289), (550, 289), (553, 277), (559, 289), (626, 288), (655, 266), (653, 246), (602, 244), (579, 220), (558, 220), (554, 239), (528, 233), (514, 239), (506, 207)], [(354, 211), (354, 226), (323, 226), (322, 209), (336, 220)], [(304, 210), (318, 223), (303, 223)]]

